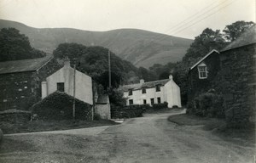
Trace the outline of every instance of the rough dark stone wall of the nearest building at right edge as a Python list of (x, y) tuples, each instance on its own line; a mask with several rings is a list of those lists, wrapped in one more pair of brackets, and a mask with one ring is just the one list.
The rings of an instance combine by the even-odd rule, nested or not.
[(256, 46), (221, 53), (218, 89), (224, 94), (226, 119), (231, 126), (255, 121)]

